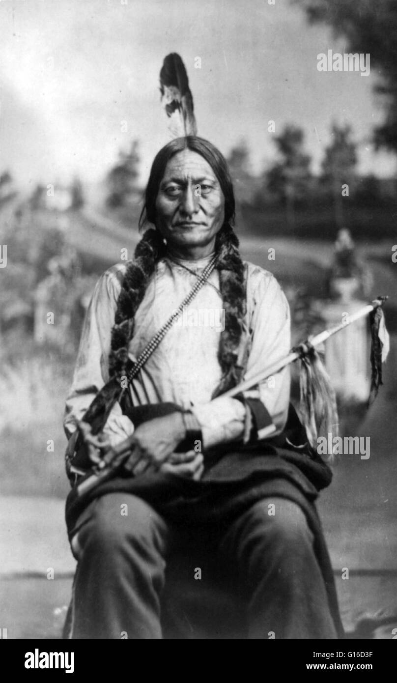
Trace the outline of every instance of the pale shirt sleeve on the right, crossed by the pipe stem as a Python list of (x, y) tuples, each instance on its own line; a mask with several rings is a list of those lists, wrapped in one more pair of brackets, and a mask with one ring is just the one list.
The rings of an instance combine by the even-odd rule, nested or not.
[[(291, 342), (290, 308), (275, 277), (263, 271), (256, 273), (255, 283), (248, 283), (247, 296), (252, 297), (253, 312), (245, 380), (266, 371), (285, 357)], [(255, 410), (254, 413), (258, 437), (276, 436), (284, 429), (288, 416), (289, 367), (243, 392), (243, 397), (248, 400), (248, 405), (260, 402), (263, 406), (263, 410)], [(247, 441), (248, 409), (240, 401), (222, 396), (208, 404), (193, 406), (192, 412), (202, 430), (204, 448), (238, 438)], [(260, 423), (261, 419), (263, 423)]]

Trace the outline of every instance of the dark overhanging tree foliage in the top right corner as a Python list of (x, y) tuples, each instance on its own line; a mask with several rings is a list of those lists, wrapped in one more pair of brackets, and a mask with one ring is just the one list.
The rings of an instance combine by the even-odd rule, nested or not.
[(347, 40), (346, 52), (370, 54), (377, 70), (375, 92), (383, 98), (385, 120), (374, 131), (377, 148), (397, 152), (397, 2), (395, 0), (292, 0), (310, 23), (327, 23)]

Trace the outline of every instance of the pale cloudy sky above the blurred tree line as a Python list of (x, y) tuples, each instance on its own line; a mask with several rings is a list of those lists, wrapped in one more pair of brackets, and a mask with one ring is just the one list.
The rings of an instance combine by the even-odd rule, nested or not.
[(329, 49), (346, 52), (290, 0), (0, 0), (0, 171), (25, 185), (98, 182), (138, 138), (145, 182), (169, 141), (159, 71), (178, 52), (198, 133), (223, 154), (245, 139), (254, 173), (285, 124), (303, 128), (318, 172), (337, 122), (353, 128), (359, 172), (390, 176), (396, 158), (371, 143), (377, 70), (319, 72)]

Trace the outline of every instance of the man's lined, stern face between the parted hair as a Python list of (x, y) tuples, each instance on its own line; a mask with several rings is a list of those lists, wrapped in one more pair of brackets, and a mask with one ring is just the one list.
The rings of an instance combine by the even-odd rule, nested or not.
[(156, 227), (178, 248), (204, 247), (223, 225), (225, 198), (208, 162), (196, 152), (175, 154), (156, 198)]

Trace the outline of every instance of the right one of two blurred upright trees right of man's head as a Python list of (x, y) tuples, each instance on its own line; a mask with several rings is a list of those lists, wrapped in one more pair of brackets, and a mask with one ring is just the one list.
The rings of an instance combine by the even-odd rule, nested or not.
[(354, 180), (357, 163), (355, 143), (351, 140), (350, 126), (332, 126), (332, 142), (325, 150), (323, 160), (323, 180), (331, 186), (336, 227), (343, 223), (342, 185), (347, 184), (349, 191)]

